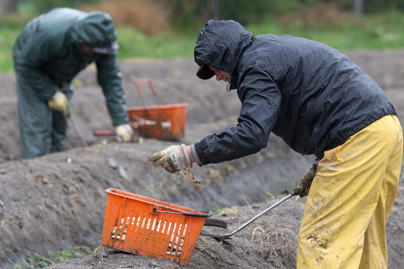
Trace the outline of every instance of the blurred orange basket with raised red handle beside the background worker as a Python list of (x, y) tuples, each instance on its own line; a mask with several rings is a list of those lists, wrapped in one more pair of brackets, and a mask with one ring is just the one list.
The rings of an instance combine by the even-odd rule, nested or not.
[[(151, 79), (134, 80), (137, 92), (144, 103), (139, 83), (148, 83), (156, 97)], [(188, 103), (137, 106), (128, 108), (129, 124), (140, 136), (165, 140), (178, 140), (185, 133)]]

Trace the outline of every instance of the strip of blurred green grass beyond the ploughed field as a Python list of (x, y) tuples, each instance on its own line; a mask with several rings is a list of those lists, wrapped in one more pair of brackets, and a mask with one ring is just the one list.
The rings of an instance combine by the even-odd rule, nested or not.
[[(273, 33), (309, 38), (341, 51), (404, 48), (404, 13), (393, 11), (377, 15), (352, 17), (324, 23), (316, 18), (282, 24), (268, 18), (259, 25), (244, 25), (254, 35)], [(29, 15), (0, 17), (0, 73), (13, 71), (11, 50)], [(203, 27), (203, 25), (201, 26)], [(145, 35), (133, 27), (118, 26), (118, 51), (126, 58), (193, 57), (198, 31), (171, 29), (160, 35)]]

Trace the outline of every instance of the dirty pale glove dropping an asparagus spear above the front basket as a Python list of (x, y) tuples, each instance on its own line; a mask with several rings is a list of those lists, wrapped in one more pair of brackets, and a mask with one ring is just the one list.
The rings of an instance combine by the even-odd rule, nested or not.
[(169, 146), (165, 150), (153, 153), (147, 156), (147, 161), (153, 161), (154, 165), (161, 165), (167, 172), (173, 174), (187, 167), (192, 167), (187, 147), (184, 144)]

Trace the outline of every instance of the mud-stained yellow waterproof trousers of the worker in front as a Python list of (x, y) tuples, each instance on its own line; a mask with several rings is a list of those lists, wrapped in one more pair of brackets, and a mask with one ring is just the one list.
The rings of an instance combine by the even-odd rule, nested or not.
[(395, 115), (324, 152), (299, 230), (297, 268), (387, 268), (385, 225), (402, 152)]

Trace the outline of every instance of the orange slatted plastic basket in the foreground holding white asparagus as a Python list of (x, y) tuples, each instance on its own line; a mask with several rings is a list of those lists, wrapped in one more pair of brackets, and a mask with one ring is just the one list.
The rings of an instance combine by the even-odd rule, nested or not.
[(210, 211), (114, 188), (108, 193), (101, 245), (187, 265)]

